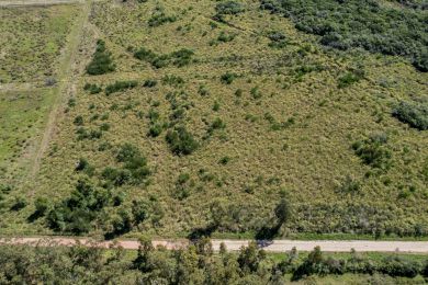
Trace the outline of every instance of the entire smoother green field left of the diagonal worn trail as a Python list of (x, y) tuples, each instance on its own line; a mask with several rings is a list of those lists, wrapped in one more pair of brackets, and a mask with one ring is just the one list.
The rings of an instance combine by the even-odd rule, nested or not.
[[(58, 95), (60, 53), (79, 10), (76, 5), (0, 9), (2, 210), (9, 203), (4, 194), (26, 182)], [(27, 193), (21, 194), (13, 200), (23, 201)]]

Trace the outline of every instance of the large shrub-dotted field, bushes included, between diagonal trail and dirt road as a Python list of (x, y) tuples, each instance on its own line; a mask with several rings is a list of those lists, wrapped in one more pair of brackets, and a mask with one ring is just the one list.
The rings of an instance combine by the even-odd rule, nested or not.
[[(391, 55), (356, 38), (323, 44), (296, 29), (294, 5), (285, 18), (267, 1), (139, 2), (93, 5), (97, 50), (35, 197), (4, 210), (3, 226), (106, 237), (428, 235), (428, 76), (415, 64), (425, 27), (415, 50)], [(410, 8), (380, 9), (390, 31)]]

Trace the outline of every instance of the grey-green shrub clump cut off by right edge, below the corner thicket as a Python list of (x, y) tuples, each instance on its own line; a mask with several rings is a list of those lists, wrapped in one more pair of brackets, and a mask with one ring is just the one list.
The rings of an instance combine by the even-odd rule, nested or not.
[(428, 104), (402, 101), (394, 107), (393, 116), (410, 127), (428, 129)]

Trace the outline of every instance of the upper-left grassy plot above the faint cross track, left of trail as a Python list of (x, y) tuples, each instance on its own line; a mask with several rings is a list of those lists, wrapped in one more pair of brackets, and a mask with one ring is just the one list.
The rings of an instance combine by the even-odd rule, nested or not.
[(78, 9), (70, 5), (2, 8), (0, 84), (43, 84), (55, 79), (55, 64), (77, 12)]

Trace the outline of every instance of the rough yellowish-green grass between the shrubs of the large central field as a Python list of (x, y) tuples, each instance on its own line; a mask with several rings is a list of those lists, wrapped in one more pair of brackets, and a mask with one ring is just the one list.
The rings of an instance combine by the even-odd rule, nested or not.
[[(106, 166), (120, 167), (115, 153), (131, 142), (147, 158), (148, 182), (110, 189), (124, 194), (123, 203), (109, 205), (93, 220), (93, 235), (109, 231), (120, 210), (131, 212), (133, 200), (145, 200), (156, 202), (161, 215), (133, 225), (125, 237), (139, 231), (173, 237), (204, 228), (212, 221), (214, 201), (226, 213), (215, 237), (252, 237), (273, 224), (273, 208), (283, 193), (293, 216), (279, 238), (427, 235), (428, 136), (391, 115), (402, 100), (426, 99), (427, 73), (399, 57), (325, 49), (288, 19), (261, 11), (257, 2), (243, 3), (245, 12), (224, 15), (226, 23), (214, 25), (216, 2), (164, 1), (165, 14), (177, 19), (156, 27), (148, 25), (154, 1), (132, 8), (94, 4), (92, 22), (116, 70), (82, 76), (76, 105), (59, 123), (34, 182), (36, 196), (48, 196), (53, 204), (66, 200), (86, 176), (75, 171), (80, 158), (94, 167), (89, 180), (101, 187), (101, 172)], [(210, 45), (222, 31), (236, 36)], [(285, 35), (286, 45), (269, 46), (275, 31)], [(185, 67), (157, 68), (134, 57), (142, 47), (156, 55), (182, 48), (194, 54)], [(338, 87), (340, 78), (357, 70), (363, 71), (358, 81)], [(222, 82), (225, 73), (236, 75), (229, 84)], [(105, 89), (129, 80), (137, 87), (110, 96), (83, 90), (87, 83)], [(147, 80), (158, 84), (144, 87)], [(74, 123), (78, 116), (82, 126)], [(210, 130), (217, 118), (225, 127)], [(98, 130), (103, 124), (110, 129), (100, 138), (78, 140), (79, 127)], [(181, 125), (198, 141), (191, 153), (171, 151), (166, 140), (168, 132)], [(156, 136), (149, 136), (154, 126)], [(364, 164), (352, 150), (354, 141), (379, 133), (387, 136), (388, 169)], [(219, 163), (224, 157), (228, 162)], [(178, 186), (180, 174), (189, 174), (189, 180)], [(30, 201), (26, 208), (4, 217), (14, 230), (49, 233), (43, 219), (26, 223), (33, 210)]]

